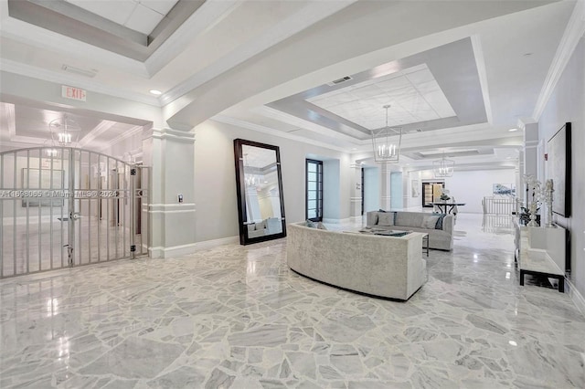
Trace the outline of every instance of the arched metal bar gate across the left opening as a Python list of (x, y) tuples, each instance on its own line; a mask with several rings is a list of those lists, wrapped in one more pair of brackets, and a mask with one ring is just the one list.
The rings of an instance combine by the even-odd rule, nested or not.
[(149, 169), (69, 147), (0, 153), (0, 279), (148, 250)]

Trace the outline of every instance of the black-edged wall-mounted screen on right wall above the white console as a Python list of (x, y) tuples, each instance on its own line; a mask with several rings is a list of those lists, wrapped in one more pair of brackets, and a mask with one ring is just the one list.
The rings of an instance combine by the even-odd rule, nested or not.
[(570, 123), (565, 123), (548, 140), (548, 178), (552, 178), (552, 212), (570, 216)]

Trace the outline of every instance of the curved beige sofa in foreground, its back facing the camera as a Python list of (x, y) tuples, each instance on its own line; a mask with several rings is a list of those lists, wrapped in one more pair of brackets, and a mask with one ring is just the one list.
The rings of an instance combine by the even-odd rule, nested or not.
[(422, 234), (380, 237), (287, 226), (290, 268), (324, 283), (392, 300), (408, 300), (427, 280)]

